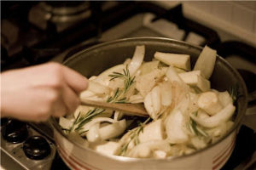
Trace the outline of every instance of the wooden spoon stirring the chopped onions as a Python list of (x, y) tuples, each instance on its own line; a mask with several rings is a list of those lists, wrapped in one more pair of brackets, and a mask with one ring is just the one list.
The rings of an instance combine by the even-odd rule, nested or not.
[(148, 112), (145, 110), (143, 105), (138, 104), (116, 104), (94, 101), (90, 99), (80, 99), (80, 105), (88, 105), (93, 107), (99, 107), (102, 109), (108, 109), (112, 111), (122, 111), (125, 115), (130, 116), (148, 116)]

